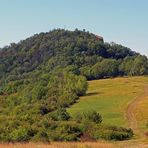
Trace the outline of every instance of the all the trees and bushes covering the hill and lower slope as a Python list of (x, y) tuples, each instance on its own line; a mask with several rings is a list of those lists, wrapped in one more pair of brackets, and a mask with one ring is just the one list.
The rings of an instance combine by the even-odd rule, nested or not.
[(74, 119), (66, 108), (85, 95), (87, 80), (146, 74), (146, 56), (85, 30), (12, 43), (0, 49), (0, 141), (129, 139), (131, 129), (104, 125), (95, 111)]

